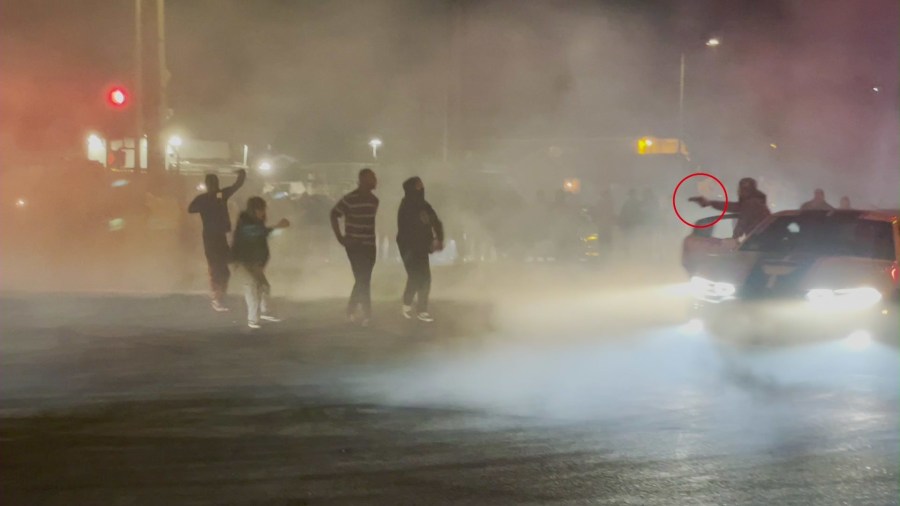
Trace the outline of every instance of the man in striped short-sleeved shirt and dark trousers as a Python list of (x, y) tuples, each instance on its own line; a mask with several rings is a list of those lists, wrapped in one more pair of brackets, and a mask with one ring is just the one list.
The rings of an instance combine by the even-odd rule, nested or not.
[[(350, 321), (363, 326), (368, 325), (372, 317), (371, 282), (376, 258), (375, 214), (378, 212), (378, 197), (372, 190), (376, 186), (378, 179), (372, 169), (359, 171), (357, 188), (344, 195), (331, 210), (331, 228), (338, 242), (347, 250), (356, 280), (347, 304), (347, 316)], [(338, 223), (340, 218), (344, 219), (343, 232)]]

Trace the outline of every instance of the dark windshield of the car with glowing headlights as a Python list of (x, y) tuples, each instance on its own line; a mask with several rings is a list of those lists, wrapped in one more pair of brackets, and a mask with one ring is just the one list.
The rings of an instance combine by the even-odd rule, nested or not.
[(858, 215), (808, 213), (776, 218), (750, 236), (741, 249), (892, 260), (894, 238), (891, 224), (886, 221), (861, 219)]

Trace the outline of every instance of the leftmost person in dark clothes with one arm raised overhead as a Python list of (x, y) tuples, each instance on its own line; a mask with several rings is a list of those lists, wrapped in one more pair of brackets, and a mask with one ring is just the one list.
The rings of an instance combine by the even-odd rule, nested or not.
[(203, 252), (209, 266), (209, 284), (212, 291), (212, 307), (216, 311), (228, 311), (225, 293), (228, 291), (229, 248), (228, 232), (231, 231), (231, 217), (228, 215), (228, 199), (244, 185), (247, 172), (238, 171), (237, 181), (225, 189), (219, 189), (219, 177), (206, 175), (206, 193), (197, 195), (188, 206), (191, 214), (200, 214), (203, 221)]

